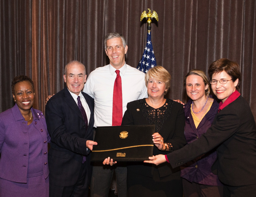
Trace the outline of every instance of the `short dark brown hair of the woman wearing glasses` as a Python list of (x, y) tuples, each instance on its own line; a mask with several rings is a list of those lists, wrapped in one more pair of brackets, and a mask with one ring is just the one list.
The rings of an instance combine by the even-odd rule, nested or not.
[(238, 63), (231, 61), (227, 58), (221, 58), (212, 62), (208, 70), (210, 80), (212, 80), (212, 75), (214, 73), (221, 73), (222, 71), (225, 71), (229, 76), (231, 76), (233, 82), (238, 79), (236, 90), (239, 90), (241, 73)]

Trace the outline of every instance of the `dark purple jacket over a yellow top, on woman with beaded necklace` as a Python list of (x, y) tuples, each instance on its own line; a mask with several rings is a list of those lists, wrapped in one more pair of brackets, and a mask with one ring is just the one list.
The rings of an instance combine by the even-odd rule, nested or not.
[[(184, 134), (187, 143), (191, 143), (204, 134), (211, 126), (219, 108), (219, 103), (214, 100), (210, 110), (205, 114), (198, 127), (196, 128), (194, 120), (191, 114), (192, 101), (189, 100), (184, 107), (185, 113), (185, 128)], [(211, 171), (211, 166), (217, 158), (216, 150), (212, 150), (209, 153), (195, 158), (193, 161), (187, 162), (181, 166), (181, 177), (190, 182), (195, 182), (203, 185), (221, 186), (217, 175)]]

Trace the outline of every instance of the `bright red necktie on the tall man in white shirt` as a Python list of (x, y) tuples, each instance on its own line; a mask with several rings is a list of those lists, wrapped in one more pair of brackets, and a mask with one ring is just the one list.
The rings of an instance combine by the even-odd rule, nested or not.
[(122, 80), (120, 71), (116, 70), (117, 77), (113, 91), (112, 126), (120, 126), (123, 118)]

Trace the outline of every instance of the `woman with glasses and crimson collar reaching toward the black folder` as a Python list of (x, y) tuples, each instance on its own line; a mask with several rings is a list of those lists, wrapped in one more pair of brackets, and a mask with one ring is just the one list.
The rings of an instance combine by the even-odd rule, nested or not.
[(146, 163), (180, 166), (217, 147), (211, 170), (224, 184), (224, 197), (254, 197), (256, 191), (256, 126), (249, 104), (238, 92), (240, 69), (226, 58), (208, 70), (213, 93), (221, 100), (211, 127), (198, 140), (169, 153), (149, 157)]

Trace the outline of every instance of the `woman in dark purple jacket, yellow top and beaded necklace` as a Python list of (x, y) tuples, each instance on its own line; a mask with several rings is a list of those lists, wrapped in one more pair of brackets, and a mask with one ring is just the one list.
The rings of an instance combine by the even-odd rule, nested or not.
[[(184, 106), (184, 135), (187, 143), (198, 140), (211, 126), (218, 112), (219, 104), (209, 97), (210, 83), (205, 73), (192, 69), (184, 79), (184, 86), (190, 100)], [(198, 156), (181, 166), (184, 197), (222, 197), (223, 185), (211, 166), (217, 158), (216, 149)]]

